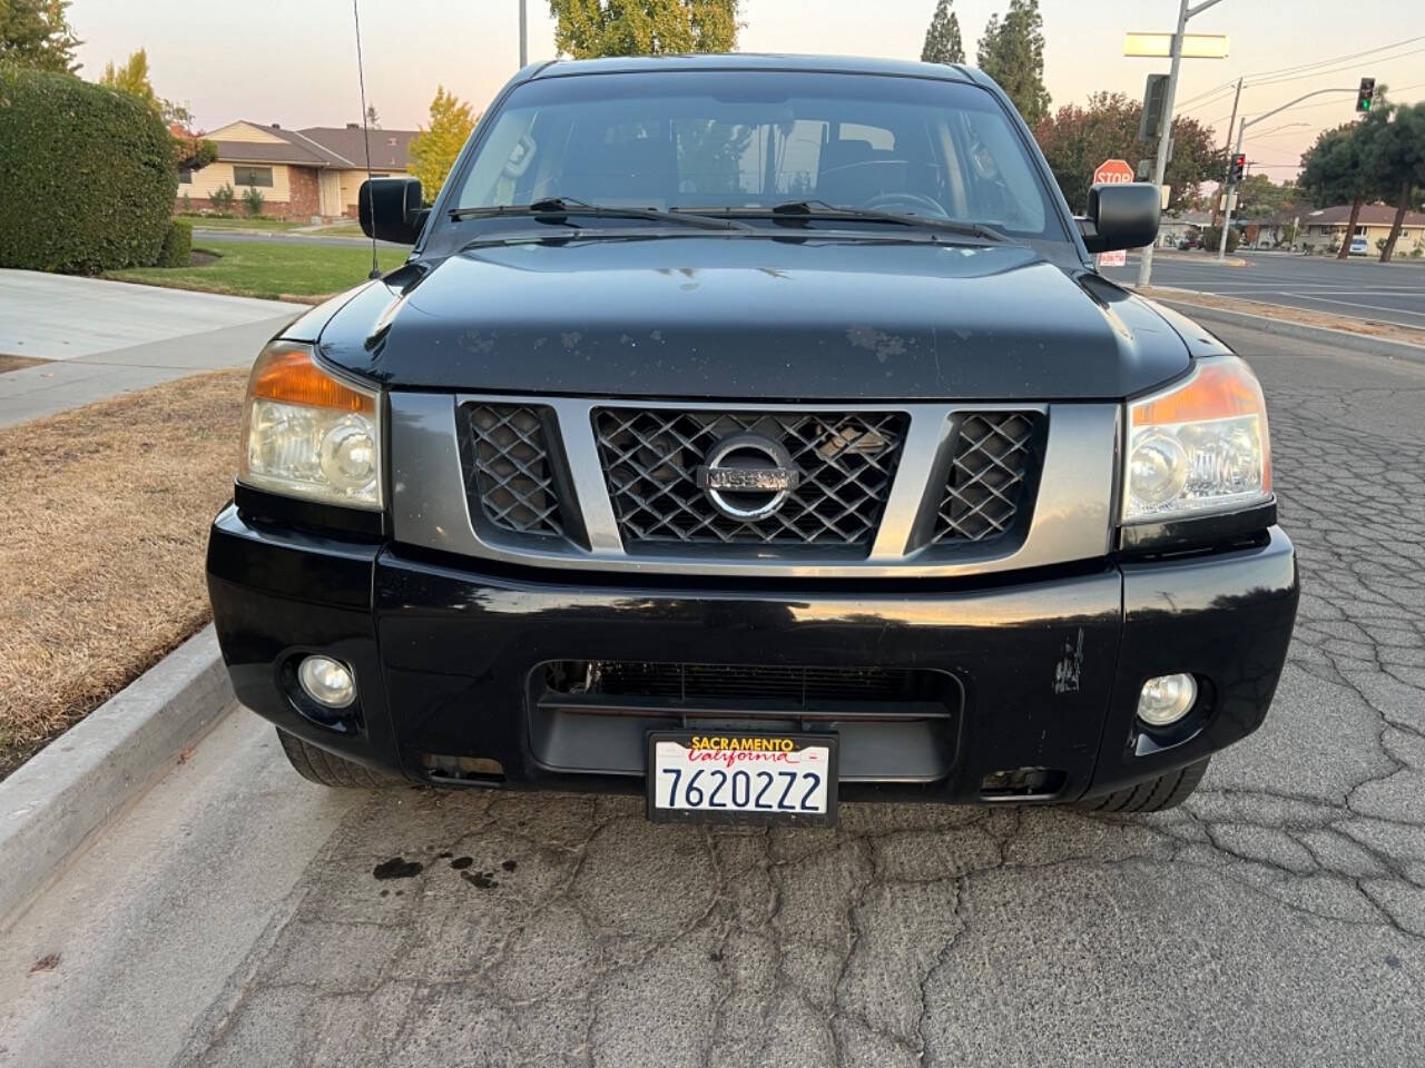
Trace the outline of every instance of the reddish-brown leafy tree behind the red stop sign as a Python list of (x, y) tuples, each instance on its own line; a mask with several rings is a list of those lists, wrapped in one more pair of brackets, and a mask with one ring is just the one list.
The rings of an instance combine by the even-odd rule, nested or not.
[[(1035, 140), (1054, 172), (1059, 188), (1074, 211), (1089, 206), (1093, 171), (1104, 159), (1146, 159), (1153, 144), (1139, 141), (1143, 103), (1123, 93), (1094, 93), (1089, 107), (1066, 104), (1035, 128)], [(1173, 120), (1173, 161), (1164, 182), (1171, 187), (1170, 211), (1197, 201), (1198, 189), (1223, 172), (1227, 157), (1216, 147), (1216, 134), (1196, 118)]]

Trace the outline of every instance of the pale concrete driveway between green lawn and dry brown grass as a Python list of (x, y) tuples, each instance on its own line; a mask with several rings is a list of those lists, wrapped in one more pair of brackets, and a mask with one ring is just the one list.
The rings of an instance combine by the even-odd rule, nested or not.
[(0, 353), (46, 360), (0, 375), (0, 426), (252, 362), (305, 310), (73, 275), (0, 271)]

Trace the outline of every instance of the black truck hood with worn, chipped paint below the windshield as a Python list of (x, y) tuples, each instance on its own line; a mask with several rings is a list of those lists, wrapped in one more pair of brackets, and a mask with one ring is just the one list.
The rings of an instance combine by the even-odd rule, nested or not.
[(395, 389), (1109, 399), (1188, 366), (1146, 302), (1019, 245), (648, 238), (416, 261), (296, 328)]

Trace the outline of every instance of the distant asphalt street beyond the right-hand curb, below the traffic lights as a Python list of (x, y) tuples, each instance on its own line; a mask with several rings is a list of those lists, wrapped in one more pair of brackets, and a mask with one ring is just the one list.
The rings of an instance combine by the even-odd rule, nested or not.
[[(1154, 256), (1153, 285), (1196, 289), (1244, 300), (1425, 328), (1425, 265), (1337, 261), (1281, 252), (1240, 252), (1247, 266), (1218, 266), (1210, 253)], [(1109, 268), (1114, 282), (1137, 283), (1137, 256)]]

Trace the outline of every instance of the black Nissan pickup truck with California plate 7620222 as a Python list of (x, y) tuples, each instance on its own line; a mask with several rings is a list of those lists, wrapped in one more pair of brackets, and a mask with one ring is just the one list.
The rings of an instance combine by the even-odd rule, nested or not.
[(408, 262), (258, 356), (208, 585), (298, 772), (839, 800), (1181, 802), (1267, 715), (1297, 567), (1261, 389), (1093, 268), (952, 66), (529, 67)]

